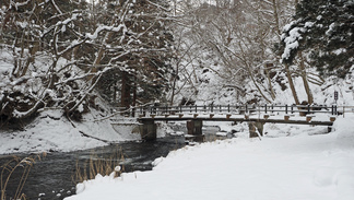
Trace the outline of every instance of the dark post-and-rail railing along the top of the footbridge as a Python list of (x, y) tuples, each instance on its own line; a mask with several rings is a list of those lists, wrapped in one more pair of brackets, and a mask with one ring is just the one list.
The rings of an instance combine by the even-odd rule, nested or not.
[[(338, 115), (338, 106), (318, 106), (318, 105), (191, 105), (191, 106), (145, 106), (135, 109), (138, 115), (177, 115), (177, 114), (229, 114), (229, 115), (251, 115), (256, 113), (263, 114), (308, 114), (323, 113)], [(138, 116), (135, 115), (135, 116)]]

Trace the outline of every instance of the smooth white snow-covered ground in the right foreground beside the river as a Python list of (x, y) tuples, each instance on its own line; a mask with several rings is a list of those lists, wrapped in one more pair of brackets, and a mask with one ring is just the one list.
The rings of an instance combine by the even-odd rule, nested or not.
[[(66, 200), (353, 200), (354, 115), (335, 131), (268, 125), (270, 134), (202, 143), (157, 158), (151, 172), (97, 175)], [(318, 130), (318, 131), (316, 131)]]

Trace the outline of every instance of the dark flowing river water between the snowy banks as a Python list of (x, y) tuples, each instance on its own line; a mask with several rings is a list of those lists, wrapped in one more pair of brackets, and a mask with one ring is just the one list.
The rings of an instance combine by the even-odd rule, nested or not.
[[(152, 162), (155, 158), (166, 156), (170, 151), (185, 146), (190, 140), (215, 140), (216, 131), (217, 128), (210, 127), (204, 131), (203, 138), (187, 139), (184, 136), (169, 136), (155, 141), (125, 142), (92, 150), (48, 153), (33, 165), (22, 192), (26, 195), (27, 200), (61, 200), (75, 193), (76, 165), (84, 168), (92, 157), (114, 160), (113, 162), (122, 167), (122, 172), (151, 170)], [(12, 156), (0, 155), (0, 165), (10, 161)], [(28, 155), (19, 154), (16, 156)], [(20, 167), (11, 176), (7, 187), (7, 200), (14, 196), (22, 174), (23, 170)]]

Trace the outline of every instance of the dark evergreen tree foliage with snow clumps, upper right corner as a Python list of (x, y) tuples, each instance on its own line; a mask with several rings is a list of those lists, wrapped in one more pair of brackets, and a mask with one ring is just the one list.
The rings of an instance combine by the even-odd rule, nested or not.
[(282, 60), (292, 63), (299, 51), (321, 74), (345, 77), (354, 64), (354, 1), (304, 0), (284, 27)]

